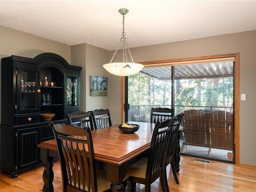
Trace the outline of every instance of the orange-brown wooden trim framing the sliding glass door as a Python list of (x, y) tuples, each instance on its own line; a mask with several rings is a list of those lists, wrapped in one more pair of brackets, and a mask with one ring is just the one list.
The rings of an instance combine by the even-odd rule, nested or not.
[[(199, 57), (188, 57), (188, 58), (176, 58), (176, 59), (164, 59), (164, 60), (154, 60), (154, 61), (144, 61), (139, 62), (143, 65), (152, 65), (167, 62), (180, 62), (180, 61), (190, 61), (190, 60), (204, 60), (204, 59), (215, 59), (215, 58), (225, 58), (234, 57), (234, 142), (235, 142), (235, 164), (240, 165), (240, 145), (239, 145), (239, 53), (229, 53), (229, 54), (219, 54), (219, 55), (207, 55)], [(121, 78), (121, 122), (123, 122), (124, 115), (124, 77)]]

